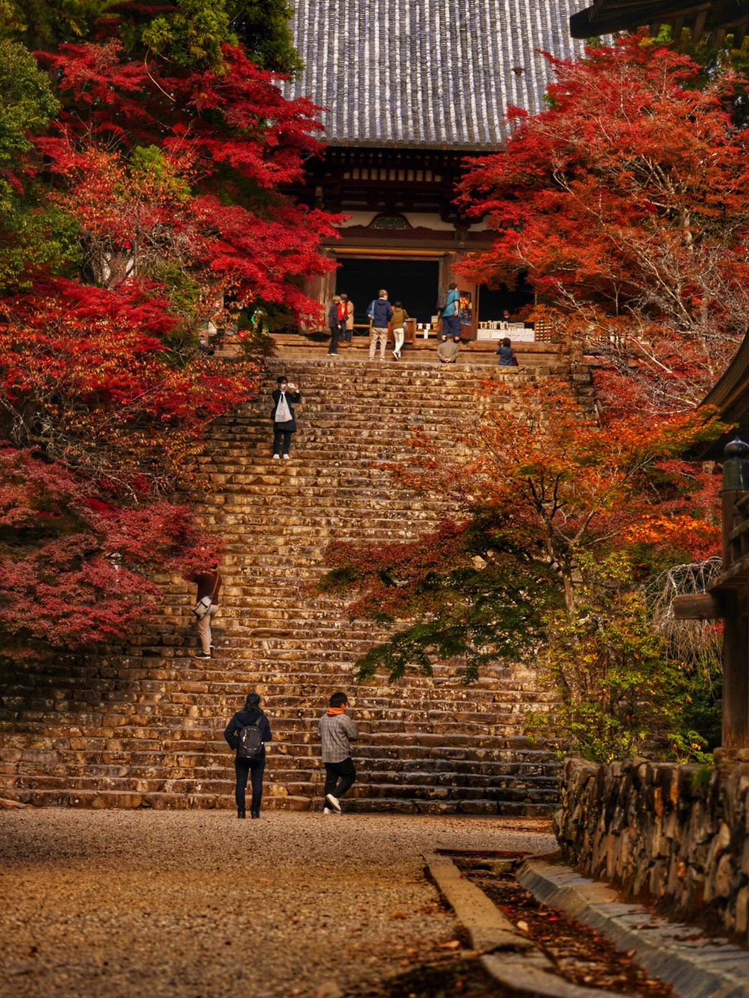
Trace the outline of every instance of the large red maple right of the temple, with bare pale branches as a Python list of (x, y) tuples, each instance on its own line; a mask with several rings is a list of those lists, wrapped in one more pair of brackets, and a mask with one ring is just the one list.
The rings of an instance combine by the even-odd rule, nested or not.
[(641, 36), (551, 61), (548, 109), (511, 111), (506, 147), (462, 181), (464, 207), (497, 234), (463, 272), (522, 272), (636, 384), (637, 404), (696, 405), (749, 314), (740, 81), (697, 86), (694, 62)]

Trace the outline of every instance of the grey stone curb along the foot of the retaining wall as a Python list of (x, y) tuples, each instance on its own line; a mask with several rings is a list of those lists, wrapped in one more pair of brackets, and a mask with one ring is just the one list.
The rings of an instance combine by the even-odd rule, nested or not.
[(749, 952), (740, 946), (623, 902), (607, 884), (543, 857), (524, 860), (516, 876), (543, 904), (601, 932), (617, 949), (634, 950), (637, 962), (680, 998), (749, 998)]

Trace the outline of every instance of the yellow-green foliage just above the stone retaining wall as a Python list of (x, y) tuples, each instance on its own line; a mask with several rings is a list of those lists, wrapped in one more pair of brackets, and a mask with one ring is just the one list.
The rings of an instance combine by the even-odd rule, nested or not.
[[(669, 656), (633, 562), (631, 553), (617, 551), (582, 559), (574, 612), (547, 615), (539, 659), (557, 702), (531, 717), (529, 731), (560, 738), (564, 751), (596, 761), (632, 755), (704, 761), (715, 745), (715, 691), (701, 671)], [(700, 698), (704, 716), (696, 710)]]

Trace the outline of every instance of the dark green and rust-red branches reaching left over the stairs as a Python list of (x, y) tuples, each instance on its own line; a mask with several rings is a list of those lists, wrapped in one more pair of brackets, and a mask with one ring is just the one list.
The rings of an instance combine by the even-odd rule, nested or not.
[(416, 621), (367, 653), (362, 681), (382, 669), (391, 682), (414, 668), (428, 676), (432, 662), (450, 660), (470, 683), (487, 662), (527, 655), (542, 640), (544, 611), (561, 598), (550, 567), (517, 544), (510, 519), (496, 509), (460, 526), (444, 521), (413, 544), (361, 554), (334, 545), (335, 567), (322, 588), (361, 591), (353, 616)]

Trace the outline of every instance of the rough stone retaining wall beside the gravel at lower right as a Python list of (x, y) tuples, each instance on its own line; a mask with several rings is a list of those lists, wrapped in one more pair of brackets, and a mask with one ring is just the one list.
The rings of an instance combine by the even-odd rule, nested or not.
[(560, 782), (565, 862), (749, 943), (749, 762), (569, 758)]

